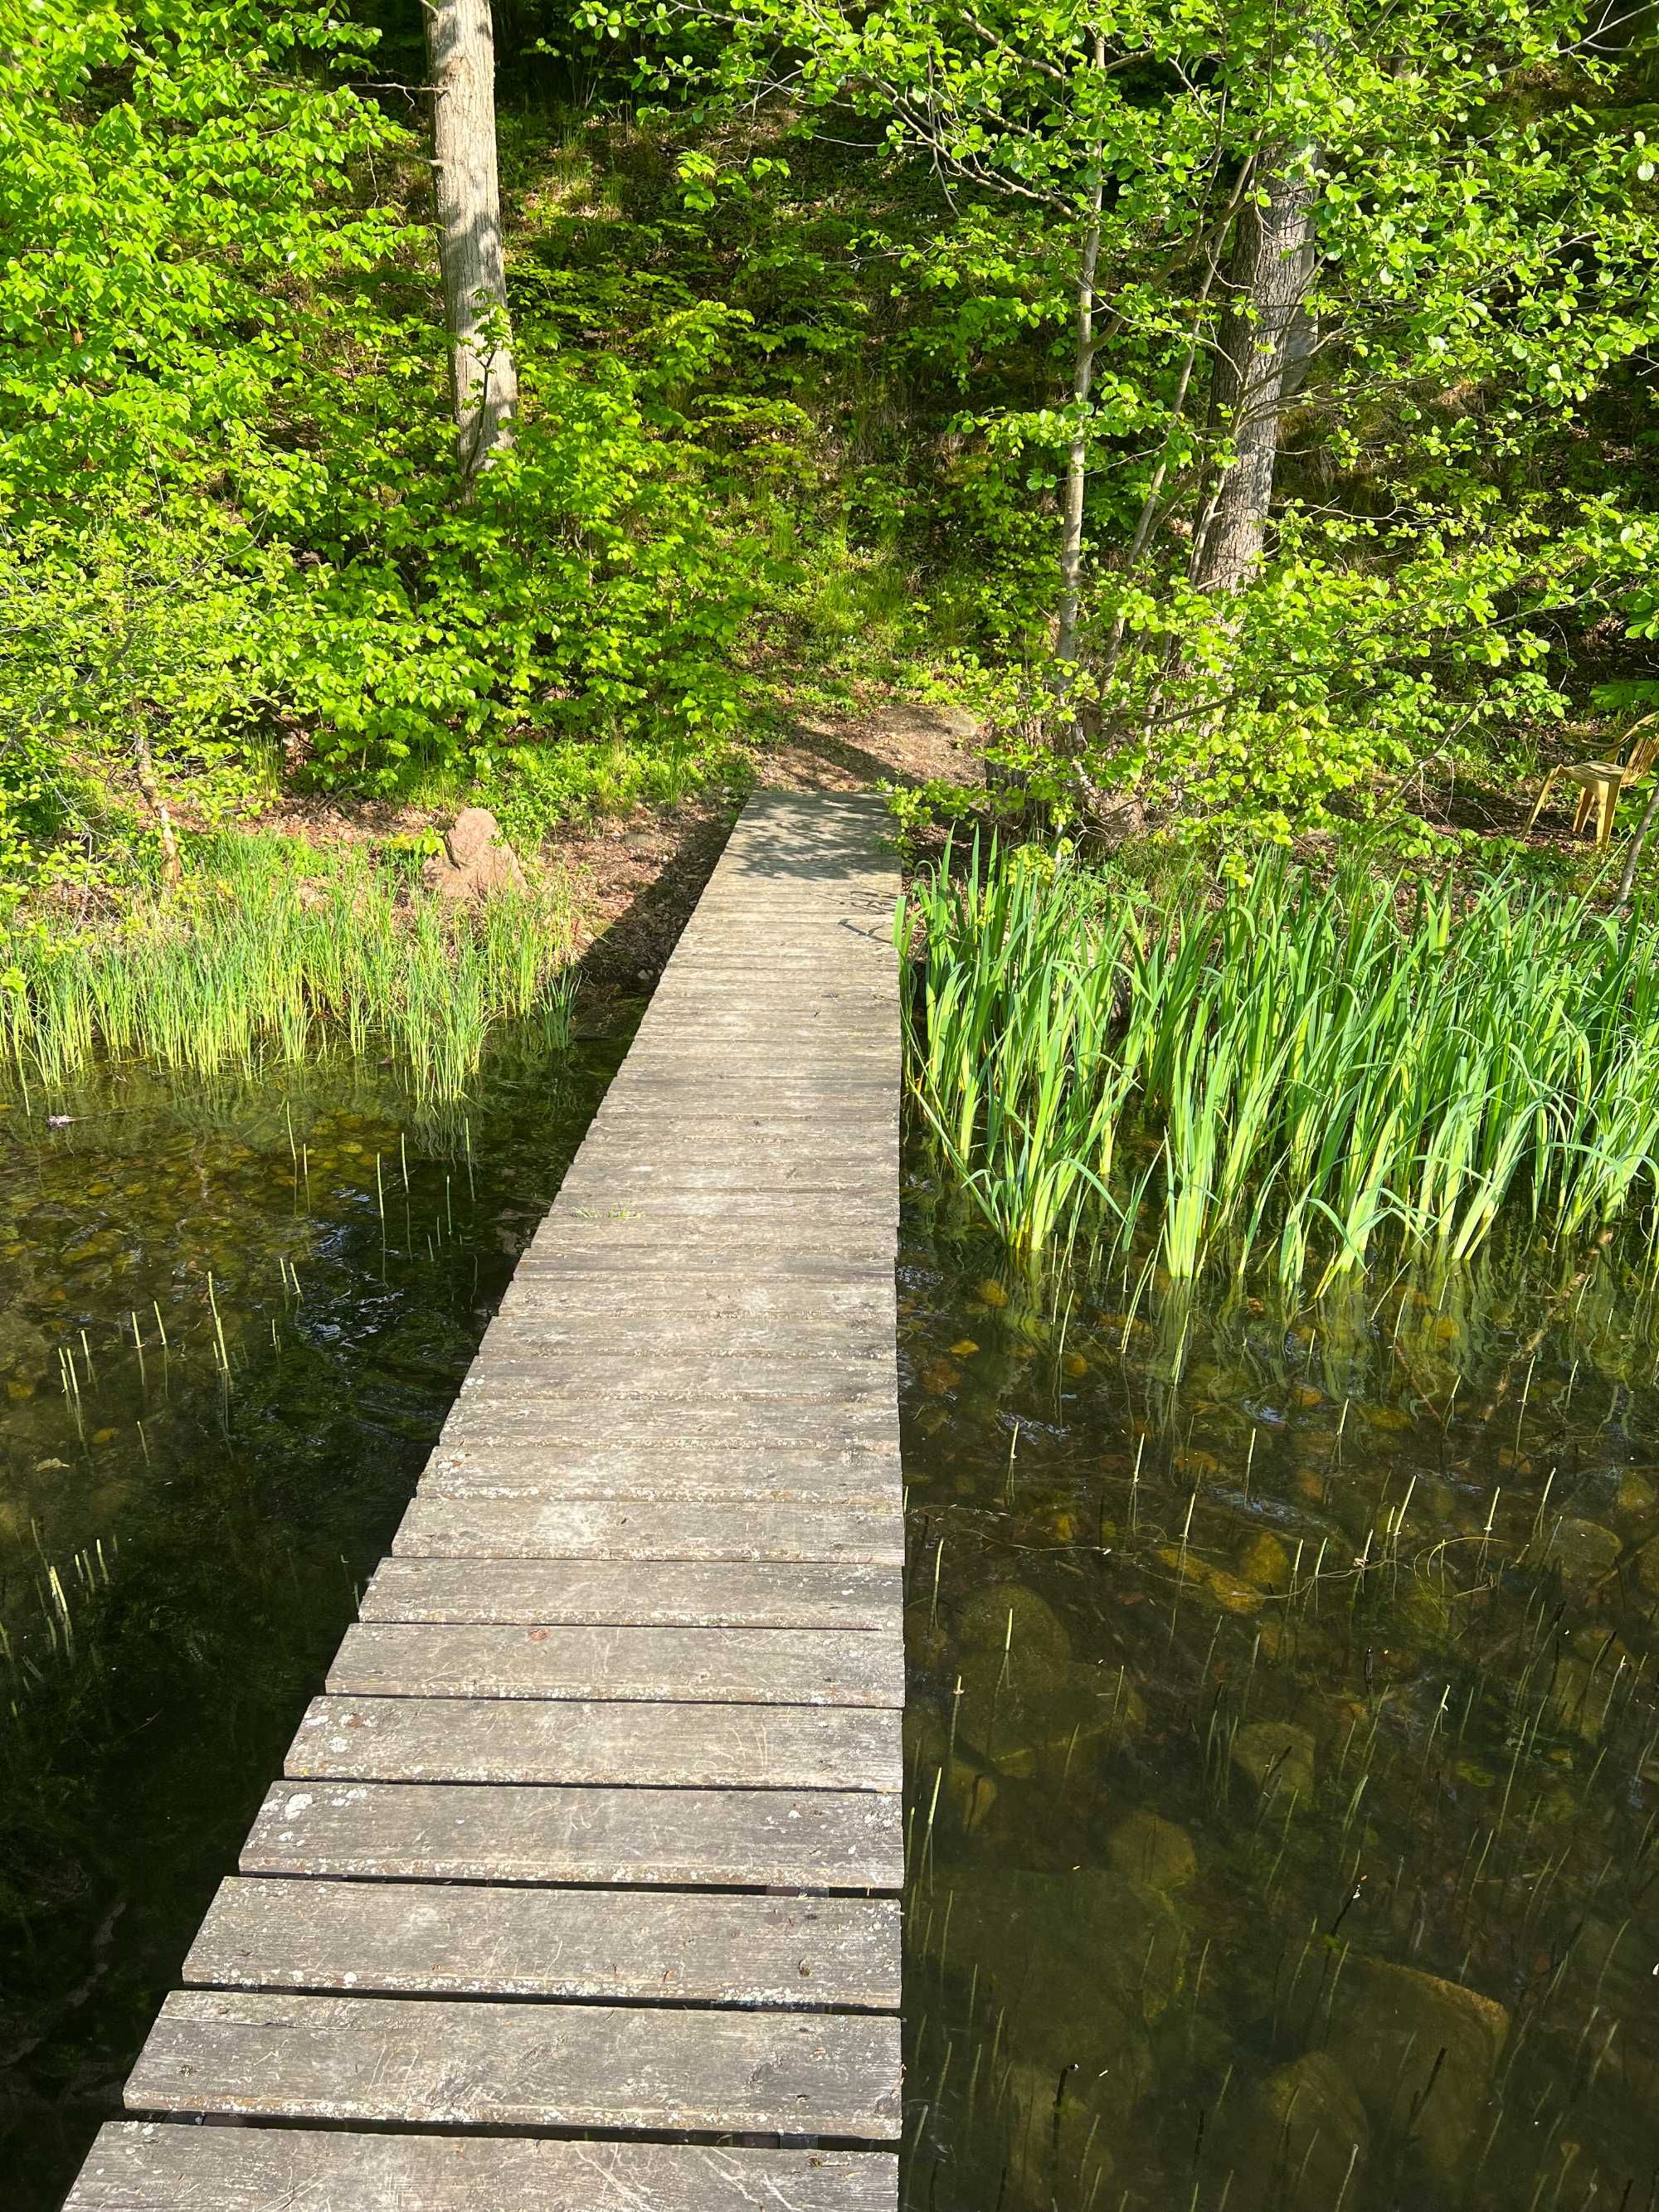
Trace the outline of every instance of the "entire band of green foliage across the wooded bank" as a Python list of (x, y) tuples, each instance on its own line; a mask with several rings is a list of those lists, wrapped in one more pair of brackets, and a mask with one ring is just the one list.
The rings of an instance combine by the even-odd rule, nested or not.
[[(538, 836), (730, 774), (770, 692), (918, 672), (991, 703), (1062, 825), (1133, 799), (1245, 849), (1641, 681), (1582, 641), (1659, 622), (1644, 24), (546, 0), (498, 29), (524, 416), (462, 502), (418, 135), (352, 88), (414, 69), (418, 11), (380, 49), (325, 0), (0, 0), (13, 883), (153, 865), (144, 759), (197, 823), (303, 781), (478, 790)], [(622, 119), (624, 84), (655, 108)], [(588, 106), (515, 108), (551, 86)], [(1267, 557), (1206, 591), (1230, 254), (1287, 168), (1303, 376)]]

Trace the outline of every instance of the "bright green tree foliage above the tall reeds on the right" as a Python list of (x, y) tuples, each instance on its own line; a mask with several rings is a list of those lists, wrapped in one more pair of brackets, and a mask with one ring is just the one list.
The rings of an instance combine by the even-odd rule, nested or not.
[[(1062, 812), (1104, 787), (1183, 830), (1285, 836), (1455, 732), (1564, 714), (1564, 626), (1652, 555), (1641, 482), (1586, 456), (1659, 334), (1655, 164), (1619, 106), (1650, 27), (1597, 44), (1584, 0), (584, 20), (639, 24), (659, 95), (692, 86), (714, 119), (759, 93), (796, 142), (863, 133), (889, 197), (931, 188), (936, 219), (883, 237), (927, 303), (900, 345), (958, 383), (951, 520), (989, 555), (980, 639), (1024, 664), (1002, 757)], [(1239, 458), (1210, 363), (1256, 312), (1230, 254), (1274, 175), (1316, 195), (1276, 535), (1243, 591), (1206, 591)], [(1068, 449), (1093, 577), (1082, 668), (1055, 670)]]

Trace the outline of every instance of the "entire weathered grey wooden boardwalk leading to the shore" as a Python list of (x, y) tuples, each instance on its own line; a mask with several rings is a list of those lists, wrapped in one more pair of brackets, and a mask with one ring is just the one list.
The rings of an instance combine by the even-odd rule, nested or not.
[(745, 807), (71, 2212), (896, 2205), (880, 845)]

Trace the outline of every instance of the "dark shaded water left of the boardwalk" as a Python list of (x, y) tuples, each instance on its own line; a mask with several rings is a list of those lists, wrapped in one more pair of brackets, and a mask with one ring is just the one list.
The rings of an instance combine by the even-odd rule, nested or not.
[[(626, 1029), (626, 1024), (624, 1024)], [(0, 2199), (55, 2212), (626, 1033), (0, 1110)]]

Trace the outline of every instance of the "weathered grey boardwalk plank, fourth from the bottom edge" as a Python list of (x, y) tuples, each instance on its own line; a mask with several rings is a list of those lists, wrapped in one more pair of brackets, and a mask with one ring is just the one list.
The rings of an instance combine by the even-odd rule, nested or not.
[(274, 1783), (243, 1874), (898, 1889), (898, 1801), (852, 1790)]

